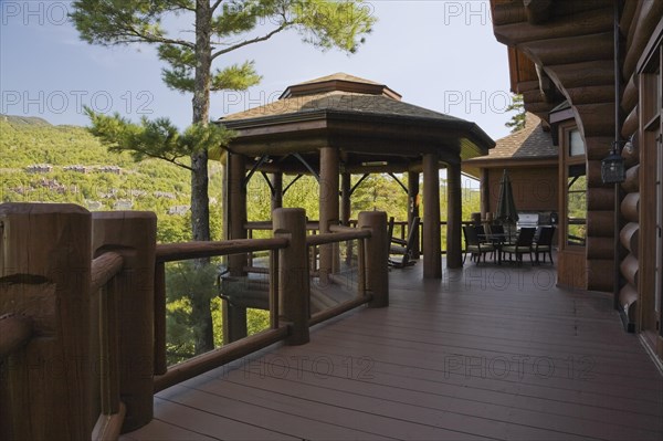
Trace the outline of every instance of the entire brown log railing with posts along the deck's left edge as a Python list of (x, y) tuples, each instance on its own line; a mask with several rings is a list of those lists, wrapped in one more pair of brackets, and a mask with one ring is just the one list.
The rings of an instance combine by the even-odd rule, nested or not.
[[(0, 439), (117, 439), (148, 423), (154, 393), (350, 307), (388, 304), (386, 214), (306, 235), (302, 209), (274, 211), (273, 238), (156, 244), (149, 212), (0, 204)], [(356, 301), (309, 315), (307, 249), (360, 241)], [(270, 329), (166, 367), (165, 263), (270, 253)]]

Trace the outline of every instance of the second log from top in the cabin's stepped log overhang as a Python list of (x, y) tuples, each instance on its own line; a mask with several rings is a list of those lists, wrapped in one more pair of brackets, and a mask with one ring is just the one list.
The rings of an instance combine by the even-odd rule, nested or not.
[(610, 32), (612, 15), (612, 7), (609, 7), (579, 12), (573, 14), (572, 20), (551, 21), (543, 25), (512, 23), (494, 25), (493, 29), (497, 41), (511, 46), (537, 40)]

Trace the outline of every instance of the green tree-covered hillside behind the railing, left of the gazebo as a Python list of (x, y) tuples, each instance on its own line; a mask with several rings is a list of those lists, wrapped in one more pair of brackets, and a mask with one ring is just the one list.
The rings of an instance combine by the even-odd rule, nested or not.
[[(212, 198), (221, 195), (219, 170), (213, 165)], [(165, 161), (135, 162), (128, 154), (108, 153), (83, 127), (0, 115), (2, 202), (73, 202), (91, 211), (155, 211), (159, 239), (179, 241), (189, 237), (189, 180), (187, 170)], [(212, 202), (211, 210), (220, 218), (220, 207)]]

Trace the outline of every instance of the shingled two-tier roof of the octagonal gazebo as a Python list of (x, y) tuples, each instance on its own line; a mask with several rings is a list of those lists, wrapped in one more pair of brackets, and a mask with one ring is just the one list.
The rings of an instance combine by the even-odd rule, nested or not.
[(377, 159), (394, 171), (427, 153), (452, 161), (494, 146), (472, 122), (404, 103), (383, 84), (344, 73), (292, 85), (280, 99), (219, 123), (235, 132), (234, 153), (287, 156), (332, 146), (350, 167)]

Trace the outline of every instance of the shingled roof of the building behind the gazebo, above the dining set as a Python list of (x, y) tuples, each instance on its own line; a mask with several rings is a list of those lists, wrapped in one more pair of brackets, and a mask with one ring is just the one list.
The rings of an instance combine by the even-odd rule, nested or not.
[(538, 116), (527, 113), (525, 128), (497, 139), (495, 148), (487, 156), (469, 159), (467, 165), (482, 167), (502, 166), (514, 160), (557, 160), (557, 146), (552, 144), (549, 132), (544, 130)]

